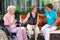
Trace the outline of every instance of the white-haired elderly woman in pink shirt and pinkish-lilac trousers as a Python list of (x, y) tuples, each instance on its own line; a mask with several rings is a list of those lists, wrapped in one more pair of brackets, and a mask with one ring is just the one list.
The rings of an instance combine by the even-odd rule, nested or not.
[(7, 11), (4, 15), (4, 24), (9, 25), (7, 27), (9, 32), (17, 33), (17, 40), (28, 40), (26, 36), (25, 29), (21, 29), (20, 27), (16, 27), (16, 20), (15, 20), (15, 6), (8, 6)]

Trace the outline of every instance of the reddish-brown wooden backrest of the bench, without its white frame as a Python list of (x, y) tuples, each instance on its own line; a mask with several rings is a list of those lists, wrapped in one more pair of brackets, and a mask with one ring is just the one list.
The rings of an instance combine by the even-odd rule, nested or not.
[[(20, 18), (21, 18), (21, 21), (23, 21), (26, 18), (26, 14), (21, 14)], [(41, 16), (39, 16), (39, 20), (40, 21), (39, 21), (38, 26), (39, 26), (39, 29), (41, 29), (41, 27), (47, 23), (47, 20), (46, 20), (46, 17), (41, 17)], [(57, 25), (58, 25), (57, 30), (60, 30), (60, 13), (58, 13), (58, 23), (57, 23)]]

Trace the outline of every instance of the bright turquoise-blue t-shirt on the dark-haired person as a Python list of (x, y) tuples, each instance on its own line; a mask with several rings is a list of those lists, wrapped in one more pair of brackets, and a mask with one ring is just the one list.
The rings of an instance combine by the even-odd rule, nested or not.
[(58, 15), (54, 10), (52, 10), (50, 12), (45, 11), (44, 15), (47, 18), (47, 24), (48, 25), (52, 25), (56, 21), (56, 19), (58, 18)]

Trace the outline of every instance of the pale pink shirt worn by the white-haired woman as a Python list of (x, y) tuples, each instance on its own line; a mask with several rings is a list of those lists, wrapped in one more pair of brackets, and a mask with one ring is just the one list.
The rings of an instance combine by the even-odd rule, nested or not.
[[(4, 24), (5, 25), (10, 25), (10, 23), (12, 23), (15, 20), (15, 16), (14, 15), (10, 15), (9, 13), (6, 13), (4, 15)], [(15, 24), (10, 25), (11, 27), (15, 27)]]

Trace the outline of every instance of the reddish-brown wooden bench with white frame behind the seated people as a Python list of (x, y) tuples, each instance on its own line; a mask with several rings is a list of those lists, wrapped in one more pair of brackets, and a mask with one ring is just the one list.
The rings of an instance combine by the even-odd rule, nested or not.
[[(26, 15), (27, 14), (21, 14), (20, 15), (20, 21), (24, 20), (26, 18)], [(59, 17), (59, 19), (58, 19), (59, 22), (57, 23), (58, 28), (56, 31), (53, 31), (51, 33), (60, 34), (60, 13), (58, 13), (58, 17)], [(46, 20), (46, 17), (44, 17), (44, 16), (43, 17), (39, 16), (39, 20), (40, 21), (39, 21), (38, 27), (39, 27), (39, 29), (41, 29), (41, 27), (47, 23), (47, 20)], [(26, 28), (26, 30), (28, 30), (28, 29)], [(39, 33), (41, 33), (41, 31), (39, 31)]]

